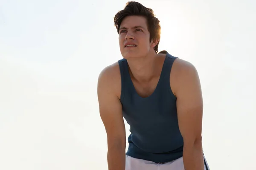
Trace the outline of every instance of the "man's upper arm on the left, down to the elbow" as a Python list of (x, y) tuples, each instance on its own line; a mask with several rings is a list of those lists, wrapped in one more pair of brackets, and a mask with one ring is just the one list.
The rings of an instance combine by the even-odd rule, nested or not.
[(122, 104), (115, 93), (111, 73), (102, 73), (98, 80), (99, 113), (108, 136), (108, 144), (125, 142)]

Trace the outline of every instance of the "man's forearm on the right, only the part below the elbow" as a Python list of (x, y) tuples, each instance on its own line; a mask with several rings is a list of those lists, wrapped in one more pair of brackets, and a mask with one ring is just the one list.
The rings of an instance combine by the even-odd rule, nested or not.
[(185, 170), (204, 170), (202, 142), (184, 143), (183, 163)]

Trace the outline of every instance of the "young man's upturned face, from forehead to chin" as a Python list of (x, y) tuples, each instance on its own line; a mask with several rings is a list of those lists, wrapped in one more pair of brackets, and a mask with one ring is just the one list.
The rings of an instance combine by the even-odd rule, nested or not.
[(122, 20), (119, 30), (119, 47), (125, 59), (142, 57), (151, 48), (147, 20), (142, 16), (128, 16)]

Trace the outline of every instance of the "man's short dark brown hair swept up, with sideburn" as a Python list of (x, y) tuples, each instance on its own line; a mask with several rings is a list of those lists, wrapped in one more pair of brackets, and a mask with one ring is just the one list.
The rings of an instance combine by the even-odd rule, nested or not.
[[(159, 40), (160, 41), (160, 34), (161, 34), (161, 26), (160, 21), (155, 17), (154, 11), (151, 8), (146, 8), (142, 4), (134, 1), (130, 1), (126, 3), (126, 6), (123, 10), (116, 13), (114, 17), (114, 23), (119, 34), (120, 25), (122, 20), (128, 16), (143, 16), (147, 20), (148, 31), (150, 34), (150, 41), (151, 40)], [(158, 44), (154, 46), (154, 51), (158, 52)]]

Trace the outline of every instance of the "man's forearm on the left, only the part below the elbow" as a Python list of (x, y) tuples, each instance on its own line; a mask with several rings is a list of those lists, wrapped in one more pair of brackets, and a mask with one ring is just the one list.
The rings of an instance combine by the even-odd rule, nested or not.
[(108, 170), (125, 170), (125, 148), (108, 149)]

